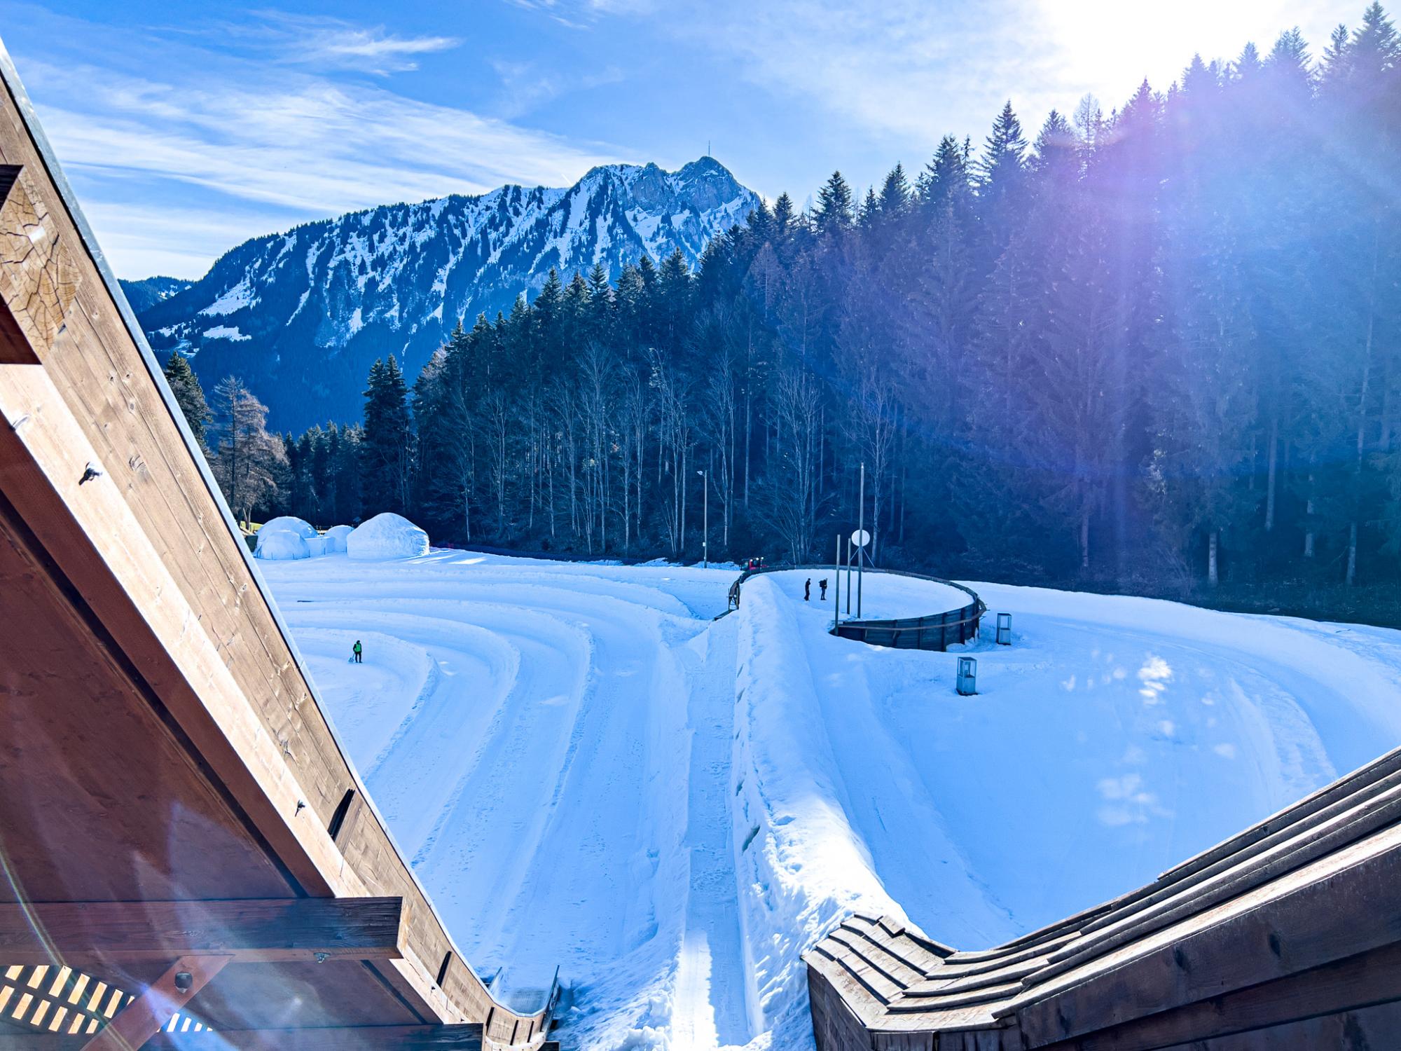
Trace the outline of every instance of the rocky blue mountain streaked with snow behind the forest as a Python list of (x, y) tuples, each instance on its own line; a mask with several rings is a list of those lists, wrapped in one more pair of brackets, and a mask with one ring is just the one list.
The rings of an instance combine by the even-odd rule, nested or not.
[(551, 268), (567, 280), (601, 262), (616, 276), (644, 252), (660, 261), (677, 248), (695, 263), (757, 205), (710, 157), (672, 172), (614, 164), (569, 189), (502, 186), (258, 237), (133, 308), (158, 356), (191, 356), (206, 388), (237, 373), (273, 426), (301, 429), (359, 419), (375, 357), (398, 355), (412, 377), (458, 318), (509, 311)]

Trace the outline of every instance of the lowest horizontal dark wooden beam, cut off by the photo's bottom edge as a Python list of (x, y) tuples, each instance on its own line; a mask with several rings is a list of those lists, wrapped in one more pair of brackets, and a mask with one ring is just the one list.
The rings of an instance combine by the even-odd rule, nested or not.
[[(50, 1033), (0, 1036), (0, 1051), (84, 1051), (88, 1040)], [(140, 1045), (142, 1051), (481, 1051), (481, 1047), (482, 1027), (476, 1023), (156, 1033)]]

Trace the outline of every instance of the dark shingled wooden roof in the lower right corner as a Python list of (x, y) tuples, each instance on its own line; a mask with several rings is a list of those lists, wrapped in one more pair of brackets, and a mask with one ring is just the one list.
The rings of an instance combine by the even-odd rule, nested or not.
[(1401, 1045), (1398, 821), (1401, 750), (996, 949), (850, 916), (804, 956), (818, 1045), (1325, 1047), (1324, 1017)]

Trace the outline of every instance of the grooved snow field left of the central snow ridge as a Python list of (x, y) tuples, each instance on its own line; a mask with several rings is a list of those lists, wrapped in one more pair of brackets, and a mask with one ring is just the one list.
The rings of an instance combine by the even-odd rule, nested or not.
[(670, 973), (653, 1024), (696, 1047), (750, 1038), (726, 792), (734, 632), (705, 631), (727, 576), (629, 583), (461, 552), (268, 575), (367, 785), (499, 996), (532, 1002), (556, 964), (601, 984), (572, 1041), (607, 1047), (622, 1019), (590, 1022), (590, 1002)]

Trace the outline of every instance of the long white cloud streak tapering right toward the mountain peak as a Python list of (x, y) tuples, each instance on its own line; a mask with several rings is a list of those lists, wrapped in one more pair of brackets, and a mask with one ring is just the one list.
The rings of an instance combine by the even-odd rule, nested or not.
[(29, 63), (27, 74), (67, 88), (42, 112), (66, 165), (315, 213), (503, 182), (567, 185), (616, 160), (464, 109), (311, 76), (193, 88), (92, 67)]

